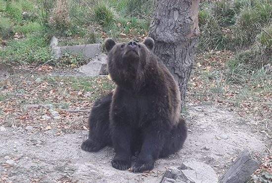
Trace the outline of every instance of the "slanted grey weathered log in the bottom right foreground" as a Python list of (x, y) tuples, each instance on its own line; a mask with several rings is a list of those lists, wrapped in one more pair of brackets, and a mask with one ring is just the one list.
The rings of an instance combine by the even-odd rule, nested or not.
[(248, 149), (244, 149), (227, 172), (220, 178), (220, 183), (245, 183), (259, 168), (260, 162), (250, 157)]

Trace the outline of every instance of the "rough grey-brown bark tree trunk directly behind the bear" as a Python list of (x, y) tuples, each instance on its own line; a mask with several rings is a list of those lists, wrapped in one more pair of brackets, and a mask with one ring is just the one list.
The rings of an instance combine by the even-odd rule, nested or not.
[(198, 5), (199, 0), (157, 0), (149, 31), (154, 53), (179, 84), (182, 108), (200, 34)]

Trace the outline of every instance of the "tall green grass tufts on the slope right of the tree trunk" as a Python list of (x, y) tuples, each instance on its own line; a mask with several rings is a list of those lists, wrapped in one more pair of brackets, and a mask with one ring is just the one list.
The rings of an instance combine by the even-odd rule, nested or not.
[[(232, 50), (227, 61), (227, 78), (243, 84), (272, 64), (271, 0), (220, 0), (200, 4), (199, 51)], [(221, 92), (215, 88), (215, 92)]]

